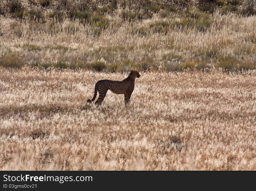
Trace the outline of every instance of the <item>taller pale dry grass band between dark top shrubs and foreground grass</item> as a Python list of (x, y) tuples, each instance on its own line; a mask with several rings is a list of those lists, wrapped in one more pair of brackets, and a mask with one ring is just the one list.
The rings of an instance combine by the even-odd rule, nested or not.
[[(185, 17), (172, 13), (134, 22), (104, 19), (96, 25), (79, 19), (38, 23), (0, 17), (0, 58), (5, 55), (1, 60), (7, 60), (0, 65), (16, 67), (8, 61), (17, 55), (23, 65), (31, 67), (64, 61), (70, 68), (95, 69), (95, 62), (103, 62), (102, 69), (111, 71), (109, 66), (115, 64), (121, 72), (124, 67), (182, 70), (184, 63), (195, 63), (189, 67), (199, 70), (256, 66), (256, 16), (218, 12), (211, 16), (194, 10)], [(236, 60), (234, 65), (232, 60)]]

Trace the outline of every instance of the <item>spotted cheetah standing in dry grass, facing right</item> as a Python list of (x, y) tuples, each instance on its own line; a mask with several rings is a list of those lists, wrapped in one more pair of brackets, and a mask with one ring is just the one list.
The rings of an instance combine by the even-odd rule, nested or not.
[(114, 94), (124, 94), (125, 95), (125, 107), (128, 106), (131, 94), (134, 90), (135, 78), (139, 78), (141, 75), (137, 71), (131, 70), (127, 78), (122, 81), (113, 80), (99, 80), (95, 84), (93, 99), (88, 99), (88, 103), (92, 103), (99, 92), (99, 98), (95, 102), (97, 105), (101, 105), (103, 99), (106, 96), (108, 90)]

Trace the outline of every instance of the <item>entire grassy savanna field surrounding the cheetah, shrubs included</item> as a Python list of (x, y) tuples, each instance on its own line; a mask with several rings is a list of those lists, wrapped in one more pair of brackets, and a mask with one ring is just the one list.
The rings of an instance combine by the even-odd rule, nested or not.
[(1, 1), (0, 170), (256, 170), (255, 5)]

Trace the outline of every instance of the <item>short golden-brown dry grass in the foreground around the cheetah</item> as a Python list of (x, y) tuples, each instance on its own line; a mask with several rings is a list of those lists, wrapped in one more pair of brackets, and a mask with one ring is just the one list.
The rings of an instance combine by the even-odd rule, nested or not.
[(128, 109), (97, 80), (0, 68), (1, 170), (256, 170), (255, 71), (141, 72)]

